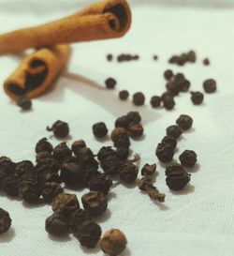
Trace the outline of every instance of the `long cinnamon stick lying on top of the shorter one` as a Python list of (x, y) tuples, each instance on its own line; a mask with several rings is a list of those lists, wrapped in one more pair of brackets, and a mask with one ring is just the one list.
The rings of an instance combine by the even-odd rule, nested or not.
[(0, 36), (0, 54), (56, 44), (120, 38), (131, 25), (125, 0), (106, 0), (64, 19)]

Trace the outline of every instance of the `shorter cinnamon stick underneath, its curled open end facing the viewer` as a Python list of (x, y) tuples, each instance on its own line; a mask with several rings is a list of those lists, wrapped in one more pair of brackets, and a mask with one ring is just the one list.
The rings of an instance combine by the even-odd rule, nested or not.
[(23, 59), (21, 66), (9, 76), (4, 83), (5, 92), (13, 100), (43, 94), (65, 67), (69, 55), (68, 45), (37, 50)]

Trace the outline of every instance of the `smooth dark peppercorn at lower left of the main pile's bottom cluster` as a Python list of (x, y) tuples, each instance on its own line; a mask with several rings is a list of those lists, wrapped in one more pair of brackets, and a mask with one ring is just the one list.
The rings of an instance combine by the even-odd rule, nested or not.
[(46, 231), (51, 235), (66, 235), (69, 230), (68, 219), (61, 213), (53, 213), (49, 218), (46, 219)]

